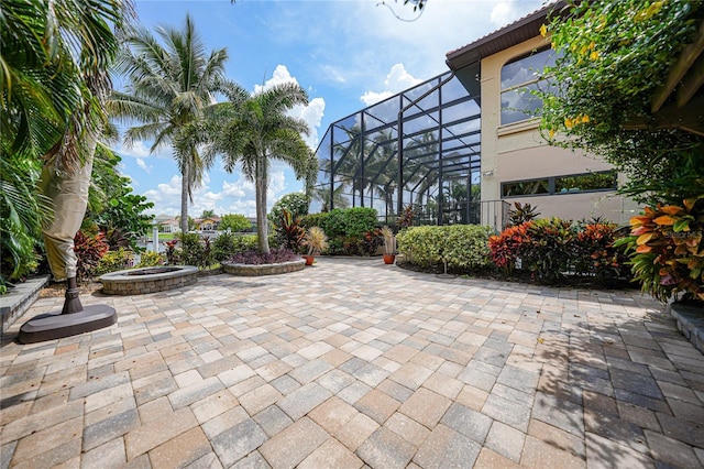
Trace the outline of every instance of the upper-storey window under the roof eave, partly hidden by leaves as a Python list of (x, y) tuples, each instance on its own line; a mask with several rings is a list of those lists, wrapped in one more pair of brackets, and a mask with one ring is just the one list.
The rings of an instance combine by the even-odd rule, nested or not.
[(542, 101), (530, 91), (549, 89), (550, 80), (542, 78), (542, 69), (554, 65), (551, 48), (516, 58), (502, 68), (502, 124), (531, 118)]

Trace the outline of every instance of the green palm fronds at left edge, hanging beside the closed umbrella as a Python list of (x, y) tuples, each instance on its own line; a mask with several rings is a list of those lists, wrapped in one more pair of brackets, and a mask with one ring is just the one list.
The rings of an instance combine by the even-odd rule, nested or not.
[(92, 159), (105, 123), (101, 98), (110, 89), (107, 69), (118, 50), (113, 28), (127, 24), (129, 11), (123, 0), (2, 1), (2, 275), (22, 274), (37, 228), (51, 217), (51, 200), (35, 188), (40, 160), (73, 174)]

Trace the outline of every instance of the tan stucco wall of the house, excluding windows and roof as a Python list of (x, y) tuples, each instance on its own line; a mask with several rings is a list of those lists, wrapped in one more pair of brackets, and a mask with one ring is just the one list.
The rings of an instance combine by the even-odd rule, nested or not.
[[(547, 40), (537, 36), (482, 61), (482, 200), (502, 199), (504, 182), (610, 168), (595, 155), (550, 146), (540, 135), (539, 119), (502, 126), (502, 67), (547, 44)], [(638, 210), (632, 200), (613, 190), (505, 197), (504, 200), (512, 205), (514, 201), (528, 203), (538, 208), (541, 217), (582, 219), (598, 216), (617, 223), (627, 223)]]

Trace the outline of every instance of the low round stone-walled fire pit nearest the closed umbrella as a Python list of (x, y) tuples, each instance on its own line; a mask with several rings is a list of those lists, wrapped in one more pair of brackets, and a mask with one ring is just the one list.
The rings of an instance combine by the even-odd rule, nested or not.
[(198, 268), (169, 265), (129, 269), (100, 276), (102, 293), (107, 295), (142, 295), (193, 285), (198, 281)]

